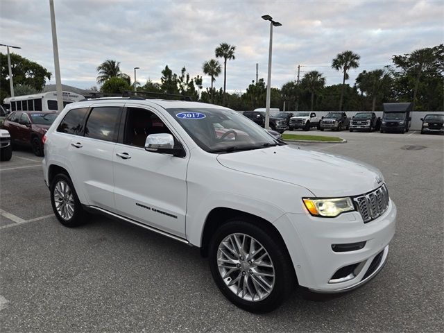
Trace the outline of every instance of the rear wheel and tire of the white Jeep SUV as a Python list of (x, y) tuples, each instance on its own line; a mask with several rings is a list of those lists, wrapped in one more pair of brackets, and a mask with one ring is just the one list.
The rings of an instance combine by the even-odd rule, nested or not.
[[(72, 228), (88, 221), (89, 214), (85, 212), (80, 200), (78, 200), (76, 189), (74, 189), (71, 178), (65, 173), (58, 173), (58, 175), (53, 178), (50, 191), (53, 212), (62, 225)], [(57, 203), (58, 205), (56, 205)], [(64, 203), (67, 210), (60, 207)], [(72, 212), (69, 210), (69, 207), (71, 207)]]

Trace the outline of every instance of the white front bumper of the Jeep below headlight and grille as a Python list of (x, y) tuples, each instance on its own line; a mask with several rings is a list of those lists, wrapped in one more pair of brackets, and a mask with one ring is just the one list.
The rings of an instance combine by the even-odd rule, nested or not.
[[(309, 214), (285, 214), (273, 223), (284, 238), (302, 287), (320, 293), (355, 289), (379, 273), (386, 262), (388, 243), (395, 234), (393, 201), (379, 218), (364, 223), (359, 212), (332, 219)], [(333, 244), (366, 242), (363, 248), (334, 252)], [(334, 278), (339, 270), (354, 266), (353, 274)]]

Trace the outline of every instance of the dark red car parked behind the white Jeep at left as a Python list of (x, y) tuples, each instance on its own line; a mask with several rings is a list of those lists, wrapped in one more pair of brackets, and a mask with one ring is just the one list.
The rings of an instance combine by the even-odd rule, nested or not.
[(6, 117), (3, 128), (11, 135), (11, 144), (31, 146), (37, 156), (43, 156), (42, 137), (57, 118), (56, 112), (16, 111)]

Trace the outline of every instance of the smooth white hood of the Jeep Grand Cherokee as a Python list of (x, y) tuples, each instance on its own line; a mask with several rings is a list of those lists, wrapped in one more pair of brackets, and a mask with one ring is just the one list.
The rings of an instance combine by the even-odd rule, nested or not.
[(294, 145), (221, 154), (217, 160), (230, 169), (305, 187), (318, 197), (357, 196), (384, 180), (363, 162)]

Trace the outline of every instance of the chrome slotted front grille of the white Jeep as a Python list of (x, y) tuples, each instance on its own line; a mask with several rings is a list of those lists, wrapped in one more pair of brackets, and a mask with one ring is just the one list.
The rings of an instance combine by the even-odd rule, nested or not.
[(388, 207), (388, 191), (386, 185), (371, 191), (363, 196), (355, 196), (355, 201), (359, 214), (361, 214), (364, 223), (373, 221), (378, 216), (386, 212)]

